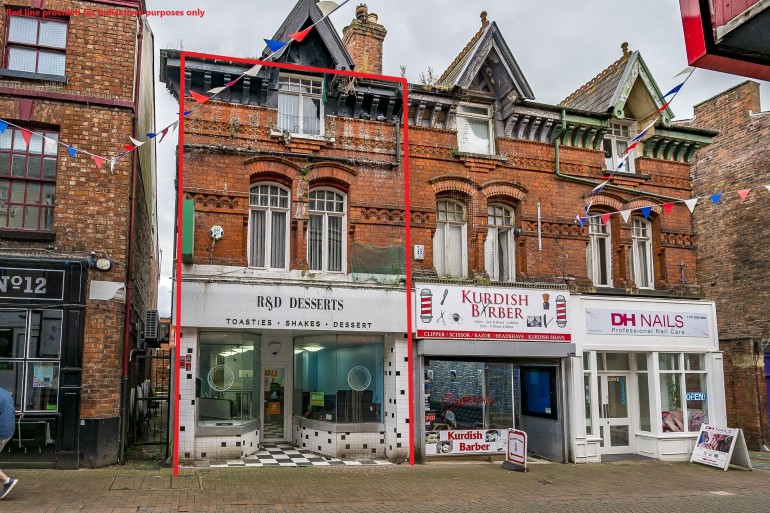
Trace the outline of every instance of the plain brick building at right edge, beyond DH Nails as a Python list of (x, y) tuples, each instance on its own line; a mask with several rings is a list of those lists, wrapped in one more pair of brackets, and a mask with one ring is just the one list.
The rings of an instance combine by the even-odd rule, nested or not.
[[(699, 150), (693, 192), (725, 193), (718, 205), (695, 211), (698, 272), (704, 291), (716, 301), (719, 343), (725, 353), (728, 425), (743, 429), (749, 445), (767, 444), (767, 391), (763, 373), (770, 336), (765, 304), (768, 282), (764, 213), (770, 205), (770, 152), (759, 143), (770, 134), (759, 84), (746, 81), (695, 106), (689, 126), (716, 130), (714, 143)], [(738, 190), (753, 189), (745, 201)]]

